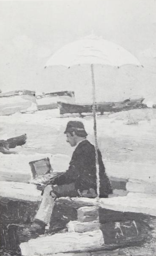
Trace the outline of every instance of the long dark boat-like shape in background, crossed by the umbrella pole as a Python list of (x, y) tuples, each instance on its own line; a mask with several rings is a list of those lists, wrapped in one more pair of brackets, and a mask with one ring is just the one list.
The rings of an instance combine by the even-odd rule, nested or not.
[[(130, 109), (138, 109), (147, 107), (143, 104), (144, 98), (134, 99), (134, 100), (124, 100), (121, 102), (97, 102), (96, 112), (103, 115), (104, 112), (120, 112)], [(92, 113), (92, 104), (70, 104), (65, 102), (58, 102), (58, 107), (60, 109), (60, 114), (66, 113)]]

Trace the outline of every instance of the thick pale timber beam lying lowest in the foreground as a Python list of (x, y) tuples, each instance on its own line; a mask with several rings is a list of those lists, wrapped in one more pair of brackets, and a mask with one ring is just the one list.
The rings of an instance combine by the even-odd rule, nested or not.
[[(70, 242), (69, 242), (70, 241)], [(80, 233), (64, 233), (43, 236), (21, 243), (23, 256), (44, 255), (59, 252), (89, 251), (101, 248), (104, 243), (101, 230)]]

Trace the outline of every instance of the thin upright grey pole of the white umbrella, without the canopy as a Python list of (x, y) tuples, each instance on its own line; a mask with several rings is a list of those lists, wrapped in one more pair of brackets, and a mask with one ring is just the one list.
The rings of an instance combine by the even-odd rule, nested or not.
[(97, 186), (97, 201), (99, 201), (99, 189), (100, 189), (100, 179), (99, 179), (99, 160), (98, 160), (98, 144), (97, 144), (97, 129), (96, 129), (96, 90), (95, 90), (95, 80), (94, 80), (94, 69), (93, 64), (91, 64), (92, 73), (92, 97), (93, 97), (93, 120), (94, 120), (94, 140), (95, 140), (95, 154), (96, 154), (96, 186)]

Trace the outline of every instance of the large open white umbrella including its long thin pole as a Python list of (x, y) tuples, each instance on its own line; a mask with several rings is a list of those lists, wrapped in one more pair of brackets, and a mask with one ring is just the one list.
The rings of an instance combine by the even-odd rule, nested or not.
[(89, 37), (74, 41), (62, 47), (53, 54), (46, 66), (67, 66), (68, 68), (78, 64), (90, 64), (92, 74), (93, 95), (93, 118), (94, 137), (96, 151), (96, 177), (97, 177), (97, 199), (99, 199), (99, 164), (97, 154), (97, 131), (96, 131), (96, 94), (93, 64), (102, 64), (120, 67), (123, 65), (141, 66), (140, 62), (130, 52), (121, 46), (104, 40), (101, 37)]

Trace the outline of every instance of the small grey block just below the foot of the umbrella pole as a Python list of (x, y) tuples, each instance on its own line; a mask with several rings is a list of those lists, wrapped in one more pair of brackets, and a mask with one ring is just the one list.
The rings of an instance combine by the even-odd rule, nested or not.
[(96, 208), (95, 206), (81, 207), (77, 209), (77, 213), (78, 221), (80, 222), (94, 221), (98, 220), (99, 218), (98, 208)]

